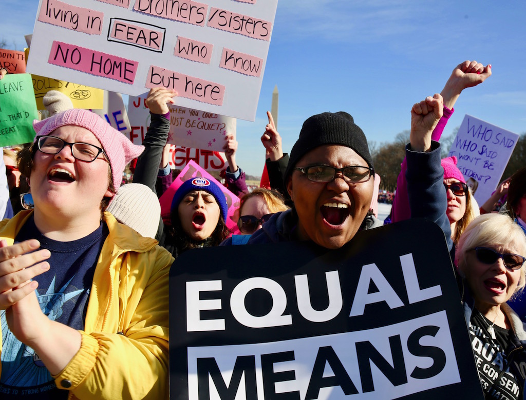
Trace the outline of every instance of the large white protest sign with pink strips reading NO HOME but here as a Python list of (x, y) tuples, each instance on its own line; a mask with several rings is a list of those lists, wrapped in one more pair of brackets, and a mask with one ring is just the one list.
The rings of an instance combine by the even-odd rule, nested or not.
[(27, 69), (254, 121), (278, 0), (41, 0)]

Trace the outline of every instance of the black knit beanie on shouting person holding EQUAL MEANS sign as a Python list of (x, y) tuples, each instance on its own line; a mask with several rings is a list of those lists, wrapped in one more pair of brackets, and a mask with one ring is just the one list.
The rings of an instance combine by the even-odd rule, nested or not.
[(301, 127), (285, 170), (285, 182), (302, 156), (323, 144), (341, 144), (356, 151), (373, 168), (365, 134), (351, 115), (344, 111), (312, 115)]

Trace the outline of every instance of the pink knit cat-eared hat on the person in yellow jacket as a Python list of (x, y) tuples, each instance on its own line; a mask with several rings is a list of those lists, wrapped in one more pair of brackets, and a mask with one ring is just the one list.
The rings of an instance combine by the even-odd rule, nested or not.
[(117, 193), (123, 180), (124, 167), (144, 151), (144, 146), (131, 143), (125, 135), (114, 129), (97, 114), (78, 108), (59, 112), (42, 121), (34, 120), (33, 129), (36, 132), (34, 142), (38, 136), (48, 135), (64, 125), (86, 128), (95, 135), (108, 157), (109, 166), (112, 169), (113, 188)]

